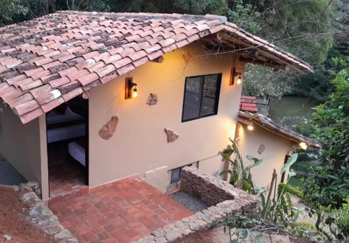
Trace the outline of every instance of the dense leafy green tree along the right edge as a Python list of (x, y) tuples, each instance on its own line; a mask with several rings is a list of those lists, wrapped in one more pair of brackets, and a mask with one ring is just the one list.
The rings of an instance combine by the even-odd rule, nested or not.
[(333, 61), (343, 67), (331, 81), (334, 93), (315, 108), (311, 121), (312, 137), (322, 145), (322, 165), (311, 169), (304, 189), (304, 201), (317, 216), (318, 230), (323, 221), (331, 229), (334, 219), (328, 213), (341, 209), (349, 194), (349, 57)]

